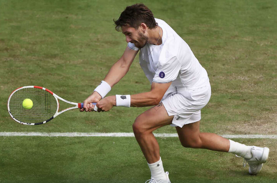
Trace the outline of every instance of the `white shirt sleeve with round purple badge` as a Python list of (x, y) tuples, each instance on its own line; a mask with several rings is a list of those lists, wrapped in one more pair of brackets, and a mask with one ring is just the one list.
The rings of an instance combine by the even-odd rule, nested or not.
[(181, 69), (181, 63), (176, 56), (159, 61), (159, 66), (152, 80), (154, 83), (169, 83), (175, 80)]

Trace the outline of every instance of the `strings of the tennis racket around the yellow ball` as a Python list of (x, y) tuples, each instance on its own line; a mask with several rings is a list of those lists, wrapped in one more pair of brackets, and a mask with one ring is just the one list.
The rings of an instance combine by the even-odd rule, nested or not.
[[(22, 102), (29, 98), (33, 101), (31, 109), (24, 109)], [(10, 112), (22, 122), (42, 122), (51, 118), (57, 110), (56, 99), (49, 92), (39, 88), (23, 88), (10, 99)]]

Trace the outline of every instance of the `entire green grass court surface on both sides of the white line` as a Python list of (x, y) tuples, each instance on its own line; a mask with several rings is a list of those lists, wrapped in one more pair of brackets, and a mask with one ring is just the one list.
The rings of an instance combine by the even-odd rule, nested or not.
[[(83, 101), (123, 53), (125, 37), (114, 30), (113, 19), (134, 3), (0, 0), (0, 131), (132, 132), (133, 121), (147, 107), (68, 111), (30, 127), (10, 118), (6, 102), (14, 89), (26, 85)], [(208, 72), (212, 97), (201, 110), (201, 131), (277, 134), (277, 1), (144, 3), (190, 45)], [(149, 89), (136, 58), (109, 95)], [(155, 132), (176, 131), (167, 126)], [(0, 139), (0, 182), (143, 182), (150, 177), (135, 138)], [(249, 176), (233, 154), (185, 149), (177, 138), (158, 139), (171, 182), (274, 182), (276, 141), (237, 140), (271, 149), (259, 175)]]

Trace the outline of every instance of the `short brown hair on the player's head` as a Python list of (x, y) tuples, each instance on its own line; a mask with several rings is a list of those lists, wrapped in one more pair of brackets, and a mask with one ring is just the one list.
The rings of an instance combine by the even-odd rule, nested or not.
[(115, 22), (115, 30), (121, 31), (121, 26), (127, 25), (137, 29), (141, 23), (145, 23), (149, 29), (155, 29), (158, 23), (155, 21), (152, 11), (143, 3), (127, 6)]

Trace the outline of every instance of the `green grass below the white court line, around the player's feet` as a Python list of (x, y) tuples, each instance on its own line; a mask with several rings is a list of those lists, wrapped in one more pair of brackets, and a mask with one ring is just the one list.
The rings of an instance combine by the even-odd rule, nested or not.
[[(0, 142), (1, 182), (127, 183), (150, 177), (135, 138), (6, 137)], [(240, 141), (267, 143), (275, 154), (257, 176), (250, 176), (234, 154), (183, 148), (178, 138), (158, 142), (171, 182), (276, 182), (276, 140)]]

